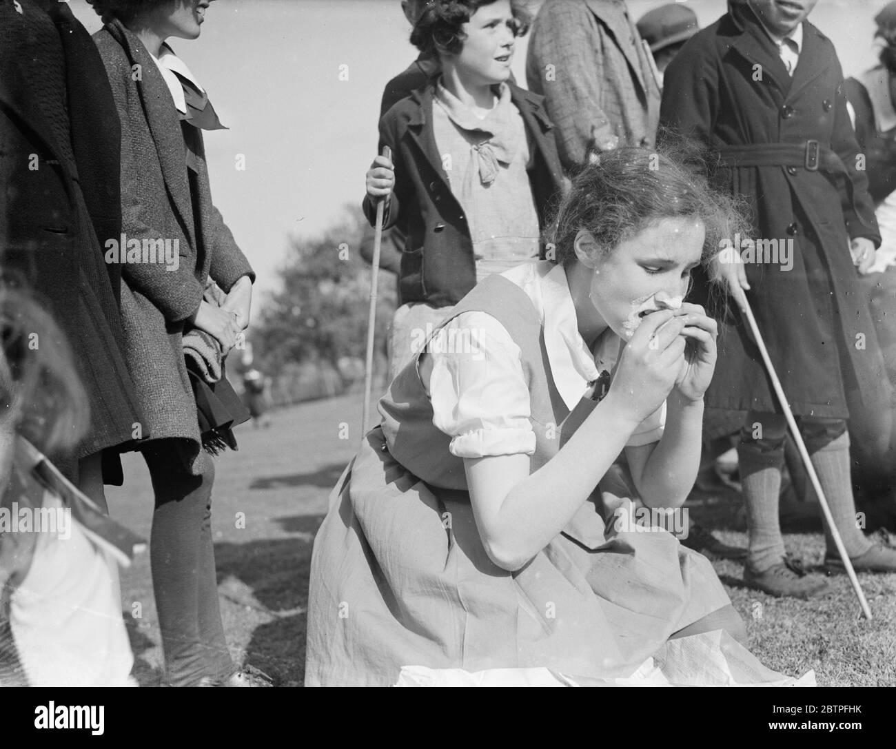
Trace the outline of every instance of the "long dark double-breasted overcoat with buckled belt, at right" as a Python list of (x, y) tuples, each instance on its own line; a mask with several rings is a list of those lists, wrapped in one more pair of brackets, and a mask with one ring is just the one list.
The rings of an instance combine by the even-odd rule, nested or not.
[[(723, 182), (752, 213), (751, 239), (793, 240), (792, 268), (781, 262), (783, 254), (777, 263), (745, 265), (747, 297), (795, 413), (846, 418), (847, 389), (866, 395), (885, 383), (849, 254), (850, 237), (868, 237), (876, 246), (880, 236), (840, 62), (830, 39), (809, 22), (803, 28), (791, 79), (752, 10), (730, 4), (669, 65), (661, 121), (720, 154), (728, 167)], [(817, 151), (806, 145), (812, 140)], [(765, 148), (781, 143), (793, 144), (793, 152), (770, 155)], [(766, 152), (732, 156), (730, 147), (740, 146)], [(757, 166), (757, 159), (765, 160)], [(737, 166), (743, 163), (752, 165)], [(727, 322), (707, 404), (780, 412), (745, 323), (732, 311)]]

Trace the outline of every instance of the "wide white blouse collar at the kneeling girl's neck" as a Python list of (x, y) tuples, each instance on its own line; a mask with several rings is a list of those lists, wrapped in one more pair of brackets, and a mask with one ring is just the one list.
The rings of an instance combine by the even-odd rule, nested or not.
[(501, 275), (525, 291), (538, 311), (544, 327), (551, 375), (566, 408), (573, 410), (588, 383), (598, 378), (600, 370), (611, 370), (616, 365), (621, 344), (619, 337), (607, 328), (599, 340), (595, 356), (591, 357), (579, 332), (563, 266), (549, 260), (533, 261)]

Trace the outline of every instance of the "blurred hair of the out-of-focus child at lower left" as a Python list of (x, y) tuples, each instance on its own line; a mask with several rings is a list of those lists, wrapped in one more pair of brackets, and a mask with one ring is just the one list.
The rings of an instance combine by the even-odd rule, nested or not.
[(0, 344), (0, 426), (50, 455), (73, 450), (90, 426), (90, 407), (71, 350), (39, 303), (5, 284)]

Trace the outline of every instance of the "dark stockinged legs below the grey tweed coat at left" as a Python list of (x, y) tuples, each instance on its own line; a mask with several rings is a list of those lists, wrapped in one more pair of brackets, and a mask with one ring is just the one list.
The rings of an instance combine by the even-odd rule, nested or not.
[(237, 671), (224, 639), (211, 540), (211, 461), (190, 475), (173, 440), (143, 449), (155, 493), (150, 563), (166, 681), (190, 686), (203, 676), (227, 679)]

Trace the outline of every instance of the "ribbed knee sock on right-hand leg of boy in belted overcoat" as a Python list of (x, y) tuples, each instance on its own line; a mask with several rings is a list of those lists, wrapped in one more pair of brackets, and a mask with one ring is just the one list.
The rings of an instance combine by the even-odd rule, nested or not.
[[(831, 508), (834, 525), (840, 531), (843, 546), (850, 557), (856, 557), (871, 548), (871, 542), (857, 526), (856, 503), (852, 496), (849, 477), (849, 433), (844, 432), (835, 440), (813, 452), (810, 456), (815, 473), (822, 485), (824, 496)], [(837, 555), (837, 547), (831, 538), (831, 529), (824, 521), (824, 538), (829, 555)]]

